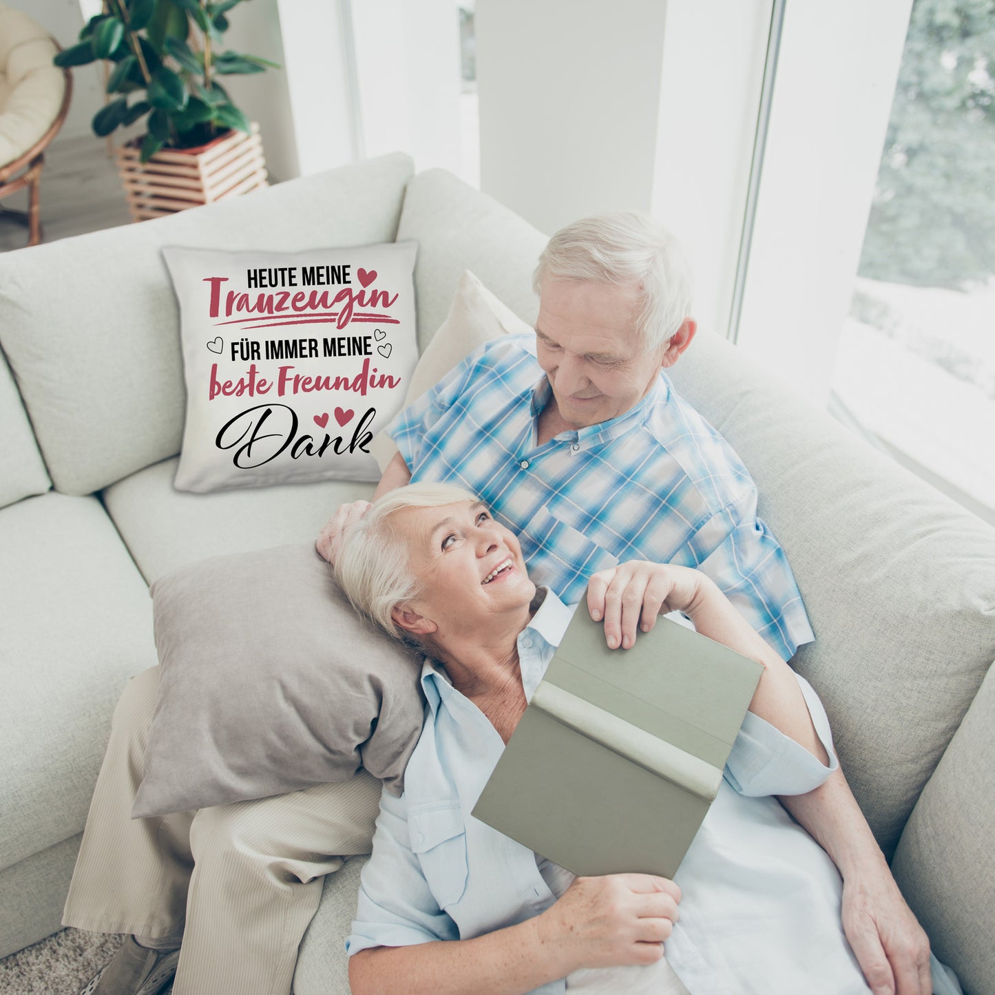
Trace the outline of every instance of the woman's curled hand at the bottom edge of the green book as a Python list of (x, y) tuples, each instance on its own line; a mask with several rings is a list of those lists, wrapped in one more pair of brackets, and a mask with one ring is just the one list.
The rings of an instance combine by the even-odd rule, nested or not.
[(667, 878), (577, 878), (536, 920), (539, 941), (564, 973), (578, 967), (652, 964), (678, 920), (681, 889)]

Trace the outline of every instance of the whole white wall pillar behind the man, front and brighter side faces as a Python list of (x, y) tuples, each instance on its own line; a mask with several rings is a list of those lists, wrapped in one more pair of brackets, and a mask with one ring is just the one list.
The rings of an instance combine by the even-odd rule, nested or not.
[(645, 211), (725, 334), (772, 0), (478, 0), (482, 189), (551, 233)]

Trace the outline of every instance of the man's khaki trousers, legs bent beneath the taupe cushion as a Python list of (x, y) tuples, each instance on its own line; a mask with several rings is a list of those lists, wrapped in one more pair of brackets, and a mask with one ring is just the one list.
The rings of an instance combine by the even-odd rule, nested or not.
[(131, 819), (158, 685), (132, 678), (114, 711), (63, 923), (182, 933), (174, 995), (288, 995), (322, 877), (370, 852), (380, 782)]

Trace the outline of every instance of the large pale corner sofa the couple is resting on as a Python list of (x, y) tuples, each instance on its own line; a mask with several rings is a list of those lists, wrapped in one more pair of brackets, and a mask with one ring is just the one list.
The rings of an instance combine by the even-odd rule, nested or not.
[[(544, 237), (445, 172), (412, 177), (402, 155), (0, 256), (0, 955), (59, 928), (111, 708), (155, 663), (146, 585), (200, 557), (307, 540), (371, 490), (172, 489), (184, 388), (159, 247), (395, 238), (420, 245), (423, 346), (464, 269), (534, 317)], [(905, 896), (965, 990), (995, 991), (995, 530), (707, 331), (673, 373), (757, 482), (817, 634), (795, 665)], [(348, 990), (361, 864), (325, 883), (300, 995)]]

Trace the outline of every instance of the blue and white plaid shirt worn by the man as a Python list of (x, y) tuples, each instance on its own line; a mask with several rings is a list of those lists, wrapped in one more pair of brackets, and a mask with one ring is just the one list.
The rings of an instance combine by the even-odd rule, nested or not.
[(391, 423), (412, 483), (487, 501), (521, 541), (529, 576), (572, 603), (591, 574), (631, 559), (698, 567), (789, 660), (814, 637), (756, 487), (663, 372), (635, 408), (536, 445), (549, 381), (531, 335), (471, 353)]

